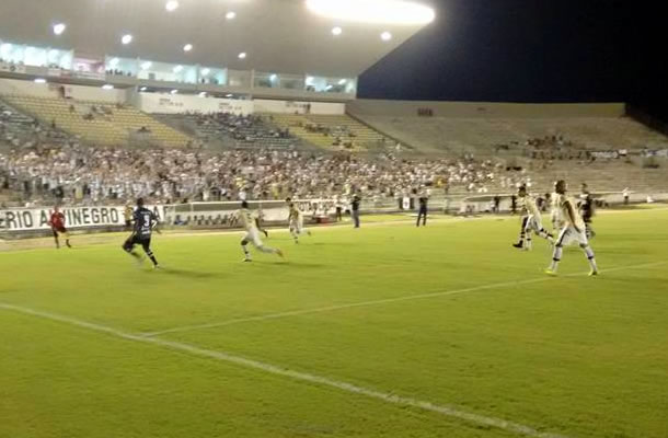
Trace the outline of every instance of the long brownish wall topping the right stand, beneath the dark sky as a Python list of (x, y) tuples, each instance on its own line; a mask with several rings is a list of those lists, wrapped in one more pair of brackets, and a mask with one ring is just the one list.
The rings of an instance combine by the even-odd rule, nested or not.
[(625, 105), (623, 103), (525, 104), (360, 99), (349, 102), (346, 111), (362, 117), (365, 115), (417, 117), (425, 114), (452, 118), (621, 117), (625, 115)]

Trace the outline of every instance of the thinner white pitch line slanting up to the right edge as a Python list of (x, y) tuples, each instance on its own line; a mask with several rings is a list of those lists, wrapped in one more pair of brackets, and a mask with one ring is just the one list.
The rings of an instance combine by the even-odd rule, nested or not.
[[(619, 267), (602, 269), (601, 274), (613, 273), (617, 270), (654, 267), (654, 266), (660, 266), (660, 265), (665, 265), (665, 264), (668, 264), (668, 261), (645, 263), (642, 265), (619, 266)], [(566, 275), (563, 275), (562, 277), (577, 277), (577, 276), (584, 276), (584, 275), (586, 275), (586, 273), (566, 274)], [(332, 312), (332, 311), (336, 311), (336, 310), (388, 304), (388, 303), (401, 302), (401, 301), (422, 300), (422, 299), (428, 299), (428, 298), (441, 298), (441, 297), (449, 297), (449, 296), (461, 295), (461, 293), (467, 293), (467, 292), (476, 292), (480, 290), (497, 289), (497, 288), (512, 287), (512, 286), (522, 286), (522, 285), (530, 285), (533, 283), (543, 283), (543, 281), (550, 281), (550, 280), (554, 280), (554, 278), (549, 277), (549, 276), (543, 276), (543, 277), (537, 277), (537, 278), (529, 278), (526, 280), (493, 283), (490, 285), (474, 286), (474, 287), (464, 288), (464, 289), (445, 290), (445, 291), (436, 291), (436, 292), (419, 293), (419, 295), (410, 295), (410, 296), (384, 298), (384, 299), (371, 300), (371, 301), (350, 302), (347, 304), (326, 306), (326, 307), (322, 307), (322, 308), (290, 310), (290, 311), (286, 311), (286, 312), (268, 313), (268, 314), (264, 314), (264, 315), (249, 316), (249, 318), (238, 318), (238, 319), (232, 319), (232, 320), (227, 320), (227, 321), (211, 322), (211, 323), (207, 323), (207, 324), (183, 325), (180, 327), (165, 328), (165, 330), (156, 331), (156, 332), (145, 332), (145, 333), (141, 333), (140, 336), (151, 337), (151, 336), (159, 336), (159, 335), (164, 335), (164, 334), (169, 334), (169, 333), (192, 332), (192, 331), (196, 331), (196, 330), (223, 327), (227, 325), (241, 324), (241, 323), (245, 323), (245, 322), (277, 320), (277, 319), (281, 319), (281, 318), (298, 316), (298, 315), (310, 314), (310, 313), (324, 313), (324, 312)]]

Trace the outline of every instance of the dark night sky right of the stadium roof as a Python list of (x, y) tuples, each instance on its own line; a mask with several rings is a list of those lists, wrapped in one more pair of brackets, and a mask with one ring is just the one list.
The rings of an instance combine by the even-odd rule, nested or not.
[(437, 20), (362, 74), (359, 97), (632, 102), (666, 115), (658, 2), (433, 3)]

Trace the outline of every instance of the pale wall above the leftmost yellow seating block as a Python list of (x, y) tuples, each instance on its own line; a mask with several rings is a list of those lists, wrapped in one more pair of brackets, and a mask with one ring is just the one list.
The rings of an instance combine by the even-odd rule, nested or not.
[(122, 103), (127, 100), (125, 90), (103, 90), (97, 87), (60, 83), (35, 83), (15, 79), (0, 79), (0, 94), (19, 94), (34, 97), (71, 97), (78, 101)]

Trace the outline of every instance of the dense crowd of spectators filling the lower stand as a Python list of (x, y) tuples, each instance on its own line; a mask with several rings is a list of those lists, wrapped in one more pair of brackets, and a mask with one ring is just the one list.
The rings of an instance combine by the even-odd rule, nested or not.
[(471, 158), (407, 160), (388, 153), (207, 153), (76, 145), (0, 152), (0, 189), (36, 203), (117, 204), (141, 196), (175, 204), (349, 194), (387, 199), (427, 188), (486, 193), (491, 185), (506, 184), (504, 171), (498, 163)]

